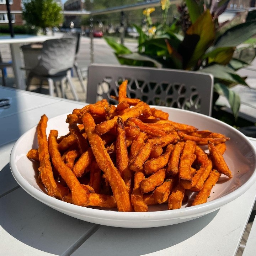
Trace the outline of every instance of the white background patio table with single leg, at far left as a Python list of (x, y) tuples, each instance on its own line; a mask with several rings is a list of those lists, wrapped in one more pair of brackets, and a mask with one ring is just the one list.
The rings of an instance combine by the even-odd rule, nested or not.
[(15, 37), (10, 37), (10, 36), (0, 37), (0, 44), (10, 44), (15, 84), (18, 89), (22, 89), (22, 90), (26, 89), (24, 77), (22, 75), (24, 73), (24, 70), (20, 69), (21, 66), (23, 66), (20, 44), (44, 42), (48, 39), (60, 38), (60, 37), (62, 37), (61, 34), (57, 34), (54, 36), (17, 35)]

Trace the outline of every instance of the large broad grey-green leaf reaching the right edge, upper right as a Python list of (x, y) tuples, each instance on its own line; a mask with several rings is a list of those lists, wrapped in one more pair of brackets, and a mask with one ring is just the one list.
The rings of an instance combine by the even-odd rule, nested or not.
[(227, 30), (214, 44), (214, 48), (236, 47), (256, 34), (256, 21), (249, 21)]

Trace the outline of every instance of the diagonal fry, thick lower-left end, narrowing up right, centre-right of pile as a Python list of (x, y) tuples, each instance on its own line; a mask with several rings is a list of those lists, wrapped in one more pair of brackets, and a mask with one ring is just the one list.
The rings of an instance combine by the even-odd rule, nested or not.
[(164, 154), (162, 154), (158, 158), (153, 158), (146, 161), (144, 164), (145, 174), (146, 175), (153, 174), (154, 172), (165, 167), (169, 162), (170, 155), (172, 153), (173, 148), (174, 148), (174, 145), (169, 144)]

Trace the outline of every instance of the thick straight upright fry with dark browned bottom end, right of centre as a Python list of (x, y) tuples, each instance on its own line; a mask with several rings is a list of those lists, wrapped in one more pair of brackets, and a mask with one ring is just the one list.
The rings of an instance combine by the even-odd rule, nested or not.
[(192, 140), (187, 140), (183, 146), (183, 150), (180, 156), (179, 164), (179, 183), (185, 189), (190, 189), (192, 185), (191, 178), (191, 163), (194, 151), (196, 149), (196, 143)]

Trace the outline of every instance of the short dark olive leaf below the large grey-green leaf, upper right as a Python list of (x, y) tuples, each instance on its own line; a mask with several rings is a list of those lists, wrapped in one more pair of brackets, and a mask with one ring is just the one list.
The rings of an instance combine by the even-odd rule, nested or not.
[(234, 47), (217, 48), (212, 52), (205, 54), (203, 58), (208, 58), (208, 64), (215, 62), (221, 65), (227, 65), (230, 62), (234, 51)]

